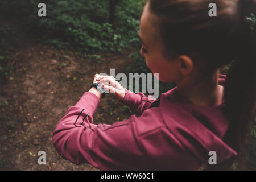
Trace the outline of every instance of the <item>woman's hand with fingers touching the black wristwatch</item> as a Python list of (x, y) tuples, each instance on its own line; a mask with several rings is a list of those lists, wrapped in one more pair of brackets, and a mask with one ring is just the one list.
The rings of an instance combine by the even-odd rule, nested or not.
[(118, 100), (123, 100), (125, 97), (125, 88), (113, 76), (98, 76), (96, 81), (104, 88), (106, 93), (114, 93)]

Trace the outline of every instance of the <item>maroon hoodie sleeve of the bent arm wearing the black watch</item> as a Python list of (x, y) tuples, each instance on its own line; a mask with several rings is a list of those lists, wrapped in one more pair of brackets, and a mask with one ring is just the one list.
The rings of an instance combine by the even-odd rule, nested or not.
[(146, 169), (135, 115), (113, 125), (94, 125), (92, 115), (99, 103), (97, 96), (86, 92), (69, 107), (53, 131), (52, 143), (58, 154), (74, 164), (90, 163), (98, 169)]

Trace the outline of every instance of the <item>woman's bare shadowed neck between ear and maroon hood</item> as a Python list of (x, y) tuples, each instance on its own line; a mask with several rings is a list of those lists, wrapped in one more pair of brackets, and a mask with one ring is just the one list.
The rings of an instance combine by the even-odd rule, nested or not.
[(220, 70), (209, 76), (191, 77), (177, 82), (177, 92), (195, 105), (214, 106), (222, 104), (223, 86), (218, 85)]

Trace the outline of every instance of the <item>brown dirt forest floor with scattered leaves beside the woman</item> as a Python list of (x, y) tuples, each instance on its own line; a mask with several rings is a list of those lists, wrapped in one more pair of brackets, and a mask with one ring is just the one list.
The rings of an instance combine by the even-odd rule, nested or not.
[[(74, 52), (36, 43), (18, 22), (0, 19), (11, 34), (16, 58), (13, 73), (0, 82), (0, 170), (97, 170), (62, 159), (52, 146), (52, 133), (70, 106), (89, 90), (95, 73), (125, 73), (134, 64), (128, 55), (104, 56), (90, 62)], [(94, 123), (112, 124), (128, 118), (130, 111), (113, 95), (101, 100)], [(38, 164), (38, 152), (46, 152), (46, 165)]]

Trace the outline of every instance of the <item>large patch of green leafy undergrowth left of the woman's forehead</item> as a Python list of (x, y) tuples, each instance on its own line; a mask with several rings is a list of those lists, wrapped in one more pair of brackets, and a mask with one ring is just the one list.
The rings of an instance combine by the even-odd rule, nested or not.
[(121, 52), (139, 41), (133, 38), (138, 34), (143, 1), (119, 1), (114, 25), (109, 22), (109, 1), (46, 0), (46, 18), (38, 17), (38, 3), (1, 0), (0, 11), (8, 15), (15, 12), (30, 30), (40, 34), (41, 42), (61, 49), (87, 54)]

